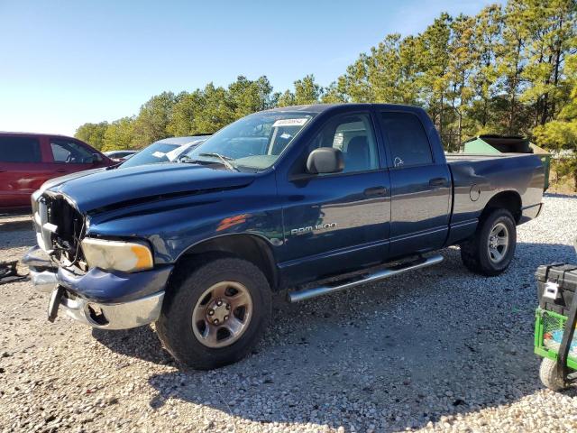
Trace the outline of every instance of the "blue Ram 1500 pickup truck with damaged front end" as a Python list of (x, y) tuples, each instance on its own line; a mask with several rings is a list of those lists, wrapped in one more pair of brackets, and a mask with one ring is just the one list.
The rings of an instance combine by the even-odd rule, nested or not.
[(455, 244), (472, 272), (504, 272), (544, 181), (534, 155), (445, 155), (417, 107), (283, 107), (179, 161), (51, 181), (32, 198), (24, 263), (50, 320), (156, 322), (180, 363), (209, 369), (251, 350), (277, 290), (350, 289)]

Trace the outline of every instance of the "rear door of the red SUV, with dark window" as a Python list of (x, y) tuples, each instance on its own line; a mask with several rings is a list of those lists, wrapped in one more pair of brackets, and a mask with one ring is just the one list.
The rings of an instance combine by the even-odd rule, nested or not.
[(29, 207), (32, 192), (50, 177), (36, 136), (0, 136), (0, 207)]

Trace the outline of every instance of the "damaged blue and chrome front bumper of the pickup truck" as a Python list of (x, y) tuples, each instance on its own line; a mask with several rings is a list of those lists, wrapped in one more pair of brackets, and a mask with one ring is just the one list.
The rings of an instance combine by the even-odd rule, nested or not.
[(91, 269), (76, 274), (58, 268), (38, 246), (23, 258), (30, 268), (32, 284), (51, 292), (49, 319), (59, 311), (91, 327), (128, 329), (156, 321), (172, 266), (144, 272), (105, 272)]

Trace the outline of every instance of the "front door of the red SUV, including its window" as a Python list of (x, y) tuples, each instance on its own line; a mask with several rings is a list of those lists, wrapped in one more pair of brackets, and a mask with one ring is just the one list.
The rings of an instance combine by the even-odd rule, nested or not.
[(64, 176), (94, 167), (92, 153), (74, 140), (50, 138), (50, 152), (53, 159), (51, 177)]

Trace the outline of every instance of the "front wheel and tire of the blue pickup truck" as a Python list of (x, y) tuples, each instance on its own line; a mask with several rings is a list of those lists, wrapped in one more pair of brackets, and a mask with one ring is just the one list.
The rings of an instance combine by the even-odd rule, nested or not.
[[(244, 307), (238, 307), (243, 302)], [(210, 370), (247, 355), (267, 326), (270, 311), (269, 282), (258, 267), (213, 256), (196, 267), (182, 264), (167, 290), (156, 329), (180, 364)], [(219, 319), (219, 325), (211, 323)]]

